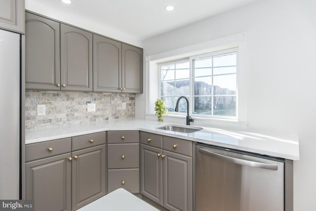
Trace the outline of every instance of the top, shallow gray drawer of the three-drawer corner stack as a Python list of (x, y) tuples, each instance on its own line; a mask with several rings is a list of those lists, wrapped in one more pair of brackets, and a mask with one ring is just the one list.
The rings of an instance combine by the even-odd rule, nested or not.
[(108, 143), (139, 143), (139, 131), (108, 131)]

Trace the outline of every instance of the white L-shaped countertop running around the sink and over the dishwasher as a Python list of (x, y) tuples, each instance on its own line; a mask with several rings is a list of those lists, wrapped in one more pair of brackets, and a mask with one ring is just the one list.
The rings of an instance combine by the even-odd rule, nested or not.
[(166, 125), (179, 126), (179, 124), (174, 123), (130, 118), (73, 126), (31, 129), (25, 132), (25, 143), (31, 144), (108, 130), (141, 130), (262, 155), (299, 160), (299, 142), (295, 135), (234, 131), (213, 127), (202, 127), (201, 130), (194, 133), (181, 133), (157, 128)]

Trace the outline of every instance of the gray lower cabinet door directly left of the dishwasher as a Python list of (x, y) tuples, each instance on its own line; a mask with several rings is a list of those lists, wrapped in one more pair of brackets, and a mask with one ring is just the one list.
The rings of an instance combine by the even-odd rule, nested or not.
[(163, 207), (192, 211), (192, 158), (163, 151)]

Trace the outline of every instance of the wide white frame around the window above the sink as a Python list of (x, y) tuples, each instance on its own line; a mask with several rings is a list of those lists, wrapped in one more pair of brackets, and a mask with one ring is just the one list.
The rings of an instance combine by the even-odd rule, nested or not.
[[(160, 74), (158, 64), (164, 61), (178, 60), (182, 58), (194, 57), (193, 55), (199, 55), (223, 49), (236, 48), (237, 47), (237, 118), (226, 119), (226, 118), (207, 118), (207, 117), (195, 117), (195, 122), (204, 121), (207, 123), (237, 123), (241, 125), (247, 125), (247, 101), (248, 101), (248, 72), (247, 72), (247, 59), (248, 59), (248, 33), (240, 33), (237, 35), (216, 39), (208, 42), (197, 43), (194, 45), (150, 55), (145, 57), (145, 107), (146, 107), (146, 119), (154, 119), (154, 102), (160, 96), (159, 83)], [(192, 64), (192, 63), (191, 63)], [(192, 76), (190, 77), (192, 79)], [(157, 80), (159, 79), (159, 80)], [(192, 85), (192, 82), (190, 83)], [(192, 87), (191, 87), (192, 89)], [(192, 114), (192, 106), (189, 111)], [(165, 116), (166, 118), (177, 118), (182, 116), (174, 112)], [(222, 116), (220, 116), (222, 117)], [(156, 117), (157, 119), (157, 117)], [(214, 124), (213, 124), (214, 126)]]

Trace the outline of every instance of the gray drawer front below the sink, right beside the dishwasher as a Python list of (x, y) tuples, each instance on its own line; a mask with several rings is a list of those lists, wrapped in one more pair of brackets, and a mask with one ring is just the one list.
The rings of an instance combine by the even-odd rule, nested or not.
[(163, 149), (192, 157), (192, 141), (163, 136)]

